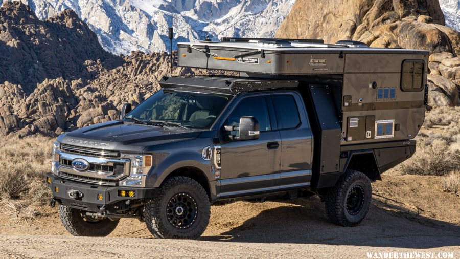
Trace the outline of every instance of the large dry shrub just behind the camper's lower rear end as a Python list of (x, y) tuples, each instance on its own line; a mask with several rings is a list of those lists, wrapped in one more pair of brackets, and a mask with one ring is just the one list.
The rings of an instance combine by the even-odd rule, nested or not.
[(440, 138), (420, 138), (417, 151), (397, 170), (409, 175), (443, 176), (460, 167), (460, 150), (450, 148), (449, 141)]

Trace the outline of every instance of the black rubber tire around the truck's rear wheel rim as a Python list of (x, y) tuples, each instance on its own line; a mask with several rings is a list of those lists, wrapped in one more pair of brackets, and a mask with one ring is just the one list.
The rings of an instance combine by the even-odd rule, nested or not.
[[(359, 183), (364, 190), (364, 204), (361, 211), (356, 215), (347, 212), (347, 195), (355, 184)], [(360, 171), (347, 170), (340, 176), (336, 185), (329, 189), (325, 195), (326, 213), (332, 223), (353, 227), (361, 223), (372, 200), (372, 186), (369, 178)]]

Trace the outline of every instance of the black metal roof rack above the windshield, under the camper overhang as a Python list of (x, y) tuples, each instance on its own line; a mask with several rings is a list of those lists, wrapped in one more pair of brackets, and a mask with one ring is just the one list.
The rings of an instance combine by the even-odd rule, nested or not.
[(180, 77), (171, 76), (163, 77), (159, 84), (164, 89), (188, 87), (195, 89), (214, 89), (219, 92), (238, 94), (246, 91), (296, 88), (296, 80), (259, 80), (259, 79), (241, 79), (230, 77)]

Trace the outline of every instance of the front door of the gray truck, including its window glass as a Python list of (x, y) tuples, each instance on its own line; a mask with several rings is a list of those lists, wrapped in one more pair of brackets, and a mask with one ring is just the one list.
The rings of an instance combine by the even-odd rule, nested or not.
[(268, 98), (268, 95), (259, 95), (242, 99), (224, 123), (238, 126), (242, 116), (254, 116), (260, 124), (260, 136), (221, 145), (222, 198), (252, 195), (278, 187), (281, 137), (279, 131), (272, 130)]

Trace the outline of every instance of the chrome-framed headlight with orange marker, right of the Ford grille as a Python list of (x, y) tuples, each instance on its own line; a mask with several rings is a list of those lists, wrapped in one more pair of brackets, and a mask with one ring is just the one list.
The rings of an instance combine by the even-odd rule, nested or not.
[(131, 160), (130, 174), (128, 178), (121, 182), (124, 186), (145, 187), (145, 178), (152, 167), (151, 155), (132, 155), (122, 154), (123, 158)]

